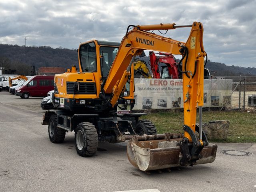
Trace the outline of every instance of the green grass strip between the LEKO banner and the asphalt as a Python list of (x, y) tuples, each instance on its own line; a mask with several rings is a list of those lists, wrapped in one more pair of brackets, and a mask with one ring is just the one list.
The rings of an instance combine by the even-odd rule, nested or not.
[[(159, 134), (183, 133), (182, 112), (158, 112), (142, 116), (154, 122)], [(228, 138), (214, 142), (256, 142), (256, 114), (236, 111), (203, 112), (203, 122), (229, 120)], [(198, 115), (197, 115), (198, 122)], [(211, 141), (213, 142), (213, 141)]]

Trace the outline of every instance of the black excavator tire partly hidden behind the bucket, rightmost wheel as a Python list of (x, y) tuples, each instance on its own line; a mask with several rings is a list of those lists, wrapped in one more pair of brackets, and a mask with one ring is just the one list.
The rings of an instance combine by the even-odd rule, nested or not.
[(152, 121), (148, 119), (139, 120), (138, 123), (136, 124), (135, 132), (138, 135), (143, 135), (143, 134), (156, 135), (157, 134), (154, 123), (152, 123)]

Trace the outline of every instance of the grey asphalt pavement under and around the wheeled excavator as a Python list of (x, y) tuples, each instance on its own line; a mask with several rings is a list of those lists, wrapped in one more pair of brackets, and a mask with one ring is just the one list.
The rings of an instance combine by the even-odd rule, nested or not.
[(74, 132), (51, 143), (41, 100), (0, 92), (0, 191), (256, 191), (255, 143), (218, 143), (213, 163), (147, 174), (128, 161), (126, 142), (100, 142), (90, 158), (76, 154)]

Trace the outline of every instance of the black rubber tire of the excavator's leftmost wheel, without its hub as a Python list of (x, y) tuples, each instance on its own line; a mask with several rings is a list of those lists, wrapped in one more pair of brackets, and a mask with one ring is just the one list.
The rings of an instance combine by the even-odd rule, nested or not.
[[(53, 122), (53, 125), (54, 125), (53, 136), (50, 136), (50, 122), (51, 121)], [(66, 130), (57, 127), (57, 115), (56, 114), (52, 115), (49, 119), (48, 134), (49, 134), (50, 141), (52, 143), (62, 143), (65, 139)]]

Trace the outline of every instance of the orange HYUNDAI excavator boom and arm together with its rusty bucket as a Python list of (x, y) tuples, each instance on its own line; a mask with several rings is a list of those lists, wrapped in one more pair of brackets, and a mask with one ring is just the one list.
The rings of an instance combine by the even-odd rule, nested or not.
[[(112, 93), (110, 98), (112, 106), (116, 104), (124, 90), (135, 56), (140, 55), (143, 50), (182, 55), (180, 72), (183, 74), (184, 98), (184, 135), (134, 136), (127, 148), (130, 162), (141, 170), (213, 162), (217, 145), (209, 145), (204, 132), (202, 132), (204, 56), (206, 56), (203, 46), (204, 29), (202, 24), (194, 22), (192, 25), (138, 25), (132, 26), (132, 30), (129, 31), (130, 27), (128, 26), (126, 36), (122, 39), (118, 54), (104, 84), (104, 91)], [(186, 42), (149, 32), (182, 27), (191, 28)], [(197, 108), (200, 112), (199, 126), (196, 126)], [(199, 138), (196, 137), (195, 132), (199, 133)], [(149, 140), (149, 142), (139, 140)]]

